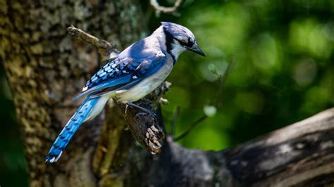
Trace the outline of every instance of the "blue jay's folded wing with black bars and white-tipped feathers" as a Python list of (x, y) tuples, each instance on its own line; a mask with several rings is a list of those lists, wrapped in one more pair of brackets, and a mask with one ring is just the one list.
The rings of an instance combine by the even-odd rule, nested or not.
[(86, 83), (82, 92), (73, 100), (94, 93), (101, 96), (110, 91), (130, 89), (145, 77), (157, 72), (166, 62), (166, 56), (161, 52), (151, 51), (141, 58), (116, 58), (102, 67)]

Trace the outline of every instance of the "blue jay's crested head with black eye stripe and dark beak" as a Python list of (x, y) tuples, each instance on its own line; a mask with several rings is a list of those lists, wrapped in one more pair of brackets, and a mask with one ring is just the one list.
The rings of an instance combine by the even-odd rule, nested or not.
[(186, 50), (205, 56), (197, 46), (194, 34), (186, 27), (173, 22), (161, 22), (161, 27), (166, 37), (167, 51), (171, 53), (173, 58), (178, 58), (180, 53)]

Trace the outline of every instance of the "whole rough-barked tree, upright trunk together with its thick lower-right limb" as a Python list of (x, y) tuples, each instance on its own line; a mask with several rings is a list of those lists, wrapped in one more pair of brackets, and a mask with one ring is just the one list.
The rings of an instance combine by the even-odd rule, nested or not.
[(106, 115), (80, 127), (61, 160), (47, 165), (52, 141), (79, 104), (70, 98), (99, 67), (99, 53), (70, 39), (66, 28), (88, 30), (119, 49), (145, 30), (135, 1), (50, 3), (0, 1), (0, 55), (30, 186), (333, 186), (334, 109), (228, 150), (189, 150), (171, 137), (161, 150), (159, 98), (167, 84), (140, 101), (157, 117), (111, 103)]

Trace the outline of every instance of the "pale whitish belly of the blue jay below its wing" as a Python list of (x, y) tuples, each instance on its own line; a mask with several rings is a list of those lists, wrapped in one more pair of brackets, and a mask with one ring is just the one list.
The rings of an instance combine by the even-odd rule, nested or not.
[(166, 77), (168, 77), (172, 69), (173, 62), (166, 63), (154, 75), (151, 75), (150, 77), (142, 80), (131, 89), (116, 93), (116, 98), (118, 101), (123, 103), (130, 103), (144, 98), (144, 96), (151, 93), (151, 91), (154, 91), (154, 89), (156, 89), (156, 87), (158, 87), (166, 79)]

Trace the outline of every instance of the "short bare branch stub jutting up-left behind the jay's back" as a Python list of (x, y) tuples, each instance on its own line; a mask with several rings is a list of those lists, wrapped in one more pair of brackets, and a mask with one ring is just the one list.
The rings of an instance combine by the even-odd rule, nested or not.
[(73, 25), (68, 27), (67, 30), (71, 37), (85, 41), (92, 46), (96, 46), (97, 49), (99, 49), (102, 60), (109, 59), (111, 53), (119, 53), (119, 51), (116, 49), (116, 45), (111, 44), (109, 41), (98, 39), (97, 37), (94, 37), (91, 34), (88, 34), (87, 32), (74, 27)]

